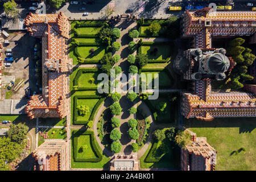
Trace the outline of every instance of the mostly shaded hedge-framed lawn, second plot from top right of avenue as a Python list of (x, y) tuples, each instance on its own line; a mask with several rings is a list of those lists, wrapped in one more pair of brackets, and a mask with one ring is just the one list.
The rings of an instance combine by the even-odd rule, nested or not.
[[(156, 53), (154, 54), (154, 49)], [(155, 44), (151, 46), (141, 46), (141, 52), (148, 55), (148, 59), (153, 60), (170, 60), (174, 52), (173, 46), (170, 44)]]

